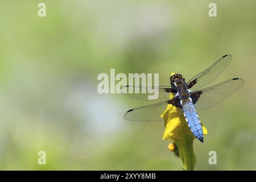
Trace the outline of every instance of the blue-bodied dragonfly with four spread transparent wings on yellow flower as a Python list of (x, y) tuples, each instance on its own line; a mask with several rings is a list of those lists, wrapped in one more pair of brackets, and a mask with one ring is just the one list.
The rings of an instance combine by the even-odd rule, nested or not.
[[(208, 109), (219, 104), (245, 83), (241, 78), (232, 78), (205, 88), (216, 80), (231, 60), (232, 55), (220, 57), (208, 69), (191, 78), (188, 82), (177, 73), (170, 77), (170, 86), (123, 86), (122, 90), (128, 88), (139, 90), (138, 93), (126, 94), (126, 96), (139, 100), (148, 100), (148, 96), (152, 94), (152, 88), (154, 88), (154, 92), (158, 92), (156, 100), (162, 100), (156, 104), (130, 109), (123, 118), (128, 121), (164, 121), (160, 115), (166, 110), (167, 105), (171, 105), (170, 109), (179, 107), (183, 111), (185, 121), (192, 134), (203, 143), (203, 129), (196, 109)], [(174, 97), (170, 98), (170, 94), (174, 94)]]

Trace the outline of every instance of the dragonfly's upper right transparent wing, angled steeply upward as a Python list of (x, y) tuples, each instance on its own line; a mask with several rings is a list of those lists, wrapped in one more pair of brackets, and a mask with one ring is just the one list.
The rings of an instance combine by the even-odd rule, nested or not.
[(218, 59), (205, 71), (199, 73), (188, 81), (188, 89), (196, 90), (203, 88), (213, 82), (232, 60), (232, 55), (225, 55)]

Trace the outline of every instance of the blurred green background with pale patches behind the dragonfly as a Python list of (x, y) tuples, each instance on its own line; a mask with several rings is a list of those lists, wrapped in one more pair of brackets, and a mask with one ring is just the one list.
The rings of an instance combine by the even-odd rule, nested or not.
[[(0, 169), (180, 170), (163, 123), (123, 120), (151, 102), (98, 94), (97, 76), (160, 73), (168, 85), (171, 72), (188, 80), (228, 53), (233, 61), (214, 84), (246, 84), (199, 110), (208, 135), (194, 142), (195, 169), (256, 169), (254, 0), (1, 1), (0, 17)], [(212, 150), (217, 165), (208, 163)]]

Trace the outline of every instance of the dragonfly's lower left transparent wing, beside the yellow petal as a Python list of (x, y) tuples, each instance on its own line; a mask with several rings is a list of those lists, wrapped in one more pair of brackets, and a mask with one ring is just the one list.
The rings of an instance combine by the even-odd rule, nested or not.
[(127, 111), (123, 118), (129, 121), (164, 121), (160, 116), (167, 105), (168, 100), (165, 100), (158, 102), (157, 104), (137, 107)]

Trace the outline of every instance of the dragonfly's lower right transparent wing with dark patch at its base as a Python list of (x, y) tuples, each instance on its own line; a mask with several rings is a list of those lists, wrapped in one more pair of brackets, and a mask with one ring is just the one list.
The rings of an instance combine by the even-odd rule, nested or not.
[(208, 109), (219, 104), (225, 98), (240, 89), (245, 81), (233, 78), (220, 84), (191, 92), (191, 98), (196, 109)]

